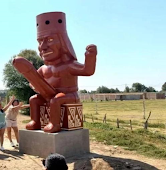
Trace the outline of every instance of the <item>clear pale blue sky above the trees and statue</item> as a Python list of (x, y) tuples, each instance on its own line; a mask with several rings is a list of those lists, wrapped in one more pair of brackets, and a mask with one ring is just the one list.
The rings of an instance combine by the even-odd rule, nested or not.
[(52, 11), (66, 13), (79, 62), (87, 45), (98, 47), (96, 72), (79, 77), (80, 89), (140, 82), (161, 90), (166, 81), (165, 0), (1, 0), (0, 8), (0, 89), (5, 63), (23, 49), (37, 51), (36, 15)]

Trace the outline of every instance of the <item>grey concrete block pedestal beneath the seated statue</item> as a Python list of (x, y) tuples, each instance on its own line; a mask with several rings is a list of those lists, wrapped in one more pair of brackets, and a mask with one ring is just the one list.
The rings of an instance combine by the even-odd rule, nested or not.
[(45, 133), (41, 130), (19, 130), (21, 153), (46, 158), (50, 153), (71, 157), (90, 152), (89, 130)]

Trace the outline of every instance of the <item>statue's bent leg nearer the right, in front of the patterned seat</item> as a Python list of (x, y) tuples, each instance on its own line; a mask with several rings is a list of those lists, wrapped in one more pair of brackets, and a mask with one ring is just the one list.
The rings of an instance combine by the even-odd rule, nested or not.
[(78, 103), (77, 93), (59, 93), (50, 101), (50, 122), (44, 127), (45, 132), (53, 133), (60, 131), (61, 105), (67, 103)]

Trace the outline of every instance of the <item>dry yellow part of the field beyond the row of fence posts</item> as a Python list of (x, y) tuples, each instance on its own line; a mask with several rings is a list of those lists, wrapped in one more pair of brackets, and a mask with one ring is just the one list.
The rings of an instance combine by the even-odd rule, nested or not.
[[(97, 114), (96, 114), (97, 105)], [(124, 121), (145, 122), (143, 119), (143, 100), (128, 101), (105, 101), (105, 102), (83, 102), (83, 113), (87, 118), (102, 121), (107, 114), (108, 121), (116, 121), (117, 118)], [(166, 123), (166, 100), (145, 100), (145, 117), (151, 113), (150, 123)]]

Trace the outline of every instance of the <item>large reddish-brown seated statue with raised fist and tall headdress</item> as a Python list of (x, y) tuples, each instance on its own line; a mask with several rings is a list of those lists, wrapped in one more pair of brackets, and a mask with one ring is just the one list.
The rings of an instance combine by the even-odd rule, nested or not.
[[(37, 71), (22, 57), (13, 61), (14, 67), (30, 82), (38, 93), (30, 98), (31, 121), (28, 130), (40, 129), (39, 106), (50, 107), (49, 123), (45, 132), (60, 131), (60, 109), (62, 104), (79, 103), (77, 76), (91, 76), (95, 72), (97, 48), (86, 47), (85, 63), (80, 64), (66, 31), (65, 14), (43, 13), (37, 16), (37, 41), (44, 65)], [(78, 42), (79, 43), (79, 42)]]

